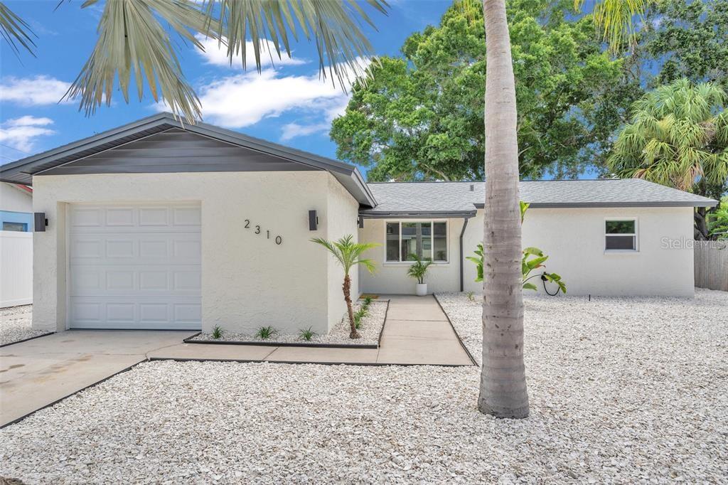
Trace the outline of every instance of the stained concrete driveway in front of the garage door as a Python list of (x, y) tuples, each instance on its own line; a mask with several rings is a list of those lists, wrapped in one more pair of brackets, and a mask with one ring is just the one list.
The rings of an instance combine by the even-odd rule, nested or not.
[(179, 344), (190, 331), (71, 330), (0, 349), (0, 426)]

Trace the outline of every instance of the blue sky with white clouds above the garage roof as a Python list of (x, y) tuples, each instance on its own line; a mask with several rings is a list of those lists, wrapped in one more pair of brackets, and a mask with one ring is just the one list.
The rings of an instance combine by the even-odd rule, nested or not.
[[(0, 44), (0, 164), (28, 154), (124, 125), (157, 112), (147, 92), (140, 101), (124, 103), (114, 92), (112, 106), (92, 117), (78, 111), (76, 102), (58, 103), (79, 73), (96, 39), (101, 8), (82, 9), (82, 1), (7, 1), (8, 7), (37, 34), (36, 58)], [(388, 16), (369, 10), (378, 32), (367, 29), (378, 55), (399, 55), (412, 32), (437, 24), (450, 1), (390, 1)], [(229, 66), (224, 52), (210, 44), (203, 54), (182, 44), (184, 73), (202, 99), (205, 122), (258, 138), (334, 157), (328, 138), (331, 119), (343, 111), (348, 95), (331, 81), (319, 79), (315, 47), (299, 42), (293, 60), (253, 68)]]

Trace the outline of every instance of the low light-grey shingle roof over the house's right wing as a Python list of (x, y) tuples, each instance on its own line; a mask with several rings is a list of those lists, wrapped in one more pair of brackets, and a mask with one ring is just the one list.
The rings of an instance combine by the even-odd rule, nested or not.
[[(378, 204), (369, 217), (467, 216), (483, 208), (484, 182), (369, 184)], [(636, 179), (521, 181), (521, 200), (532, 208), (712, 207), (716, 200)]]

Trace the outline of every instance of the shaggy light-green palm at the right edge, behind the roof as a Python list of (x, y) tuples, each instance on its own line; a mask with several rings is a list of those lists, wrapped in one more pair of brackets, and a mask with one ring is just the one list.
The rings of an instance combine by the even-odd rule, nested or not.
[[(620, 177), (644, 178), (719, 199), (728, 181), (728, 93), (688, 79), (658, 87), (634, 103), (630, 123), (607, 160)], [(709, 237), (706, 208), (695, 212), (695, 239)]]

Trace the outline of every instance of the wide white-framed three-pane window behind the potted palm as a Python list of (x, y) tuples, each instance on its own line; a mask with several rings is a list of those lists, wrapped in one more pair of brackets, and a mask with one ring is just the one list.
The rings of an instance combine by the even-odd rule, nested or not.
[(397, 263), (432, 259), (435, 263), (448, 262), (447, 221), (385, 221), (384, 261)]

